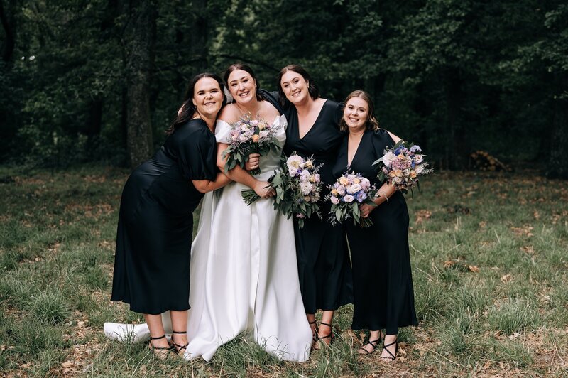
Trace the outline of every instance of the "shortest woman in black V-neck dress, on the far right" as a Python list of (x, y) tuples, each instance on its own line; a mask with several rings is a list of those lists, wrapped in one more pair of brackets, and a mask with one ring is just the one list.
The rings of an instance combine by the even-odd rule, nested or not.
[(395, 359), (399, 327), (417, 325), (413, 280), (408, 250), (408, 209), (403, 193), (379, 182), (373, 162), (385, 148), (400, 140), (378, 128), (373, 102), (366, 92), (352, 92), (345, 100), (341, 126), (349, 129), (339, 148), (333, 168), (335, 178), (346, 171), (361, 173), (378, 189), (376, 206), (361, 205), (361, 215), (371, 217), (373, 226), (362, 228), (346, 222), (353, 264), (354, 313), (351, 328), (366, 328), (371, 335), (359, 353), (372, 353), (385, 340), (381, 359)]

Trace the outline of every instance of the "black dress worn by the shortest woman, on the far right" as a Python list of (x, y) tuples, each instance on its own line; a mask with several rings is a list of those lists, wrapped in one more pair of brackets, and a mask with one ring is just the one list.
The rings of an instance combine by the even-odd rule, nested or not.
[[(377, 167), (372, 164), (383, 156), (385, 148), (395, 144), (390, 134), (383, 129), (365, 131), (349, 167), (348, 139), (346, 136), (339, 148), (333, 168), (335, 178), (354, 171), (380, 188), (383, 183), (378, 181)], [(388, 330), (417, 325), (408, 249), (408, 209), (403, 193), (397, 190), (369, 216), (371, 227), (354, 225), (352, 220), (345, 222), (353, 266), (351, 328), (384, 328), (389, 333)]]

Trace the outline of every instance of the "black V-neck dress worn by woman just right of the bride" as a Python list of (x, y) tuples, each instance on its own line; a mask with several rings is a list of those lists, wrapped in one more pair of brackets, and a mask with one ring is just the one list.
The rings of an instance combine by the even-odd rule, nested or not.
[(347, 249), (345, 229), (342, 225), (333, 226), (327, 222), (331, 204), (323, 202), (329, 190), (327, 185), (334, 183), (332, 168), (337, 158), (337, 149), (344, 133), (339, 131), (339, 120), (343, 117), (342, 104), (327, 100), (310, 131), (300, 138), (300, 128), (295, 107), (284, 109), (288, 119), (284, 152), (290, 156), (294, 151), (307, 158), (314, 156), (320, 168), (324, 189), (320, 210), (323, 220), (312, 215), (304, 221), (300, 229), (294, 221), (297, 268), (300, 276), (300, 290), (306, 313), (317, 309), (336, 310), (339, 306), (353, 301), (351, 264)]

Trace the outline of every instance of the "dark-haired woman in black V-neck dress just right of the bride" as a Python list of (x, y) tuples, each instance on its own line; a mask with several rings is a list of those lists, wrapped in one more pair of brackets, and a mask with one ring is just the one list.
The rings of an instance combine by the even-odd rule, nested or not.
[[(315, 164), (323, 164), (320, 175), (324, 187), (333, 183), (333, 163), (344, 136), (344, 132), (339, 131), (342, 105), (322, 99), (315, 82), (299, 65), (288, 65), (280, 70), (278, 92), (288, 119), (285, 153), (290, 156), (296, 151), (303, 158), (313, 155)], [(327, 202), (321, 204), (322, 215), (329, 212), (329, 206)], [(353, 301), (345, 231), (341, 225), (332, 226), (315, 215), (305, 220), (302, 229), (298, 228), (297, 221), (294, 227), (307, 320), (312, 326), (314, 341), (320, 338), (329, 344), (334, 311)], [(323, 311), (319, 329), (315, 321), (317, 309)]]

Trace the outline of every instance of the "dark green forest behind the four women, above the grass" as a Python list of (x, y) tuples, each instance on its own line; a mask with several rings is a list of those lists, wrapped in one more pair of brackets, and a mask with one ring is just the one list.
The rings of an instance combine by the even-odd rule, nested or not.
[(435, 168), (486, 151), (568, 177), (565, 1), (1, 0), (0, 19), (0, 163), (136, 166), (196, 73), (246, 63), (276, 90), (297, 63), (324, 97), (370, 92)]

